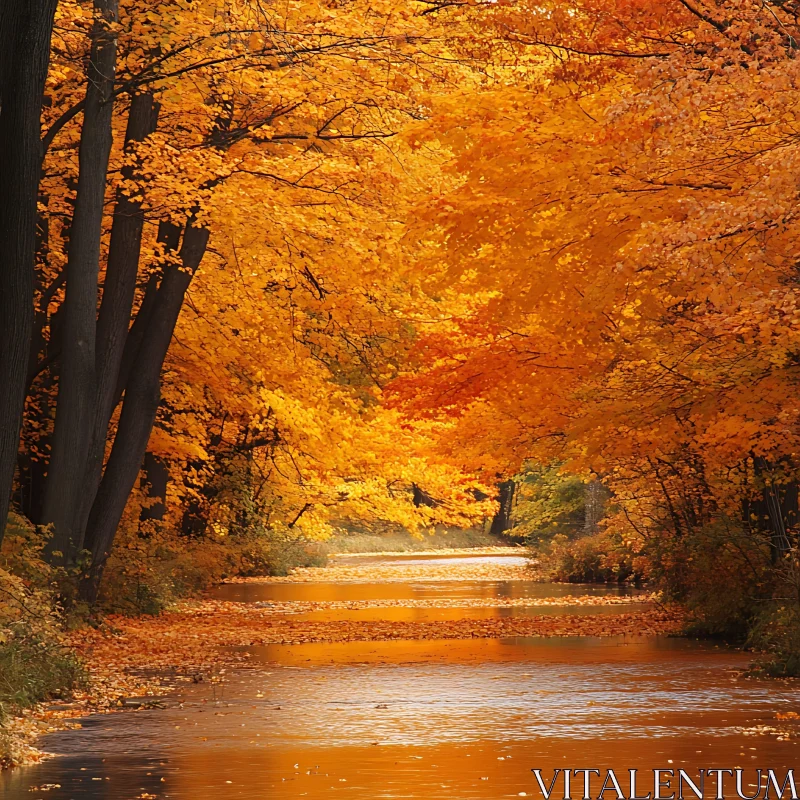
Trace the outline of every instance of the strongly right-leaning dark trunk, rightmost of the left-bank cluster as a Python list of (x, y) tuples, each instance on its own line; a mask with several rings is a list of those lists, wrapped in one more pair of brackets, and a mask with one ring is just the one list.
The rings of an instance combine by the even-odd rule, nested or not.
[(192, 220), (187, 223), (181, 266), (168, 265), (165, 269), (152, 318), (125, 387), (117, 435), (86, 531), (92, 566), (81, 584), (81, 596), (89, 603), (97, 599), (119, 522), (142, 465), (161, 399), (161, 369), (186, 290), (205, 255), (208, 237), (206, 228), (193, 227)]

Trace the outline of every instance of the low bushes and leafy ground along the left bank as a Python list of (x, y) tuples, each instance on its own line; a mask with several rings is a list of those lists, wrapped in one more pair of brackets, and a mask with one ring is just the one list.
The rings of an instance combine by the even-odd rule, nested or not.
[[(324, 564), (319, 544), (256, 531), (224, 542), (180, 541), (174, 533), (120, 533), (98, 603), (81, 602), (80, 562), (69, 569), (43, 557), (47, 531), (12, 515), (0, 553), (0, 766), (42, 757), (33, 742), (75, 717), (137, 706), (169, 688), (160, 676), (97, 660), (86, 640), (116, 640), (115, 621), (146, 620), (232, 576), (285, 575)], [(123, 646), (118, 650), (124, 650)], [(135, 658), (128, 657), (128, 662)], [(185, 665), (191, 671), (191, 665)]]

